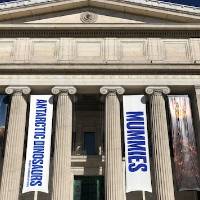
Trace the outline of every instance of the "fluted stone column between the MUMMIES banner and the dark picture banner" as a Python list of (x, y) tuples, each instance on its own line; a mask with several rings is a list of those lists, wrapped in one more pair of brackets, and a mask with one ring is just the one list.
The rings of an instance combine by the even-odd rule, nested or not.
[(174, 200), (167, 118), (163, 98), (163, 94), (169, 94), (170, 89), (168, 87), (147, 87), (146, 93), (151, 95), (150, 118), (156, 200)]

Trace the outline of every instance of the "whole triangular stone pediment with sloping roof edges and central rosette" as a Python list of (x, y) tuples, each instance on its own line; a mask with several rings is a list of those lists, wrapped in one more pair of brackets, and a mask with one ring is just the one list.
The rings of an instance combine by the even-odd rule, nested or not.
[(155, 1), (148, 5), (151, 0), (29, 0), (15, 7), (17, 2), (8, 7), (0, 4), (2, 23), (83, 23), (84, 13), (88, 12), (94, 15), (86, 18), (95, 17), (92, 22), (101, 24), (200, 22), (199, 9), (163, 6)]

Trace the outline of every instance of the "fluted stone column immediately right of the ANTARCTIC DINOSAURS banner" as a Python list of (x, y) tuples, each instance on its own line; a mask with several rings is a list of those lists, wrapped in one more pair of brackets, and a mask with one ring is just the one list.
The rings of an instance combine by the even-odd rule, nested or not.
[(72, 143), (72, 101), (70, 95), (76, 93), (76, 88), (54, 87), (52, 93), (58, 95), (58, 100), (51, 199), (70, 200)]

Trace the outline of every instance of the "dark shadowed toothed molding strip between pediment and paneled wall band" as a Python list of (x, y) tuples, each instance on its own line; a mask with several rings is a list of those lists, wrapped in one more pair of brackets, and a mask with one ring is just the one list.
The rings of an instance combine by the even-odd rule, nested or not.
[[(86, 24), (87, 25), (87, 24)], [(39, 28), (38, 28), (39, 29)], [(45, 29), (45, 28), (44, 28)], [(70, 28), (69, 28), (70, 29)], [(76, 30), (55, 30), (49, 28), (49, 30), (1, 30), (1, 38), (13, 38), (13, 37), (32, 37), (32, 38), (55, 38), (55, 37), (129, 37), (129, 38), (199, 38), (199, 30), (112, 30), (112, 26), (107, 30), (100, 30), (99, 27), (86, 27), (83, 30), (82, 27)], [(96, 29), (96, 30), (95, 30)], [(101, 28), (105, 29), (105, 28)], [(116, 28), (115, 28), (116, 29)], [(142, 28), (141, 28), (142, 29)]]

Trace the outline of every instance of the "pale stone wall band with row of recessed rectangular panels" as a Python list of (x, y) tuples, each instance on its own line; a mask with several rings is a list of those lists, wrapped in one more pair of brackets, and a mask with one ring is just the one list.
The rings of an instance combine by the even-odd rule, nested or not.
[(200, 39), (7, 38), (0, 64), (200, 63)]

